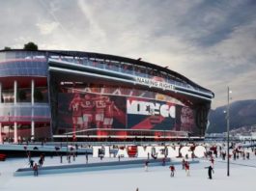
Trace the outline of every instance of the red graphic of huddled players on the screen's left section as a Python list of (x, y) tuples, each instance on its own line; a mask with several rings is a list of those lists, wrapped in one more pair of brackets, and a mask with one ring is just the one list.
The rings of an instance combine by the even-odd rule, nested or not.
[(75, 93), (59, 100), (59, 129), (126, 128), (125, 97)]

